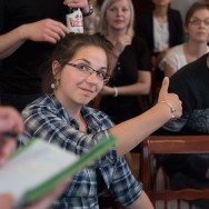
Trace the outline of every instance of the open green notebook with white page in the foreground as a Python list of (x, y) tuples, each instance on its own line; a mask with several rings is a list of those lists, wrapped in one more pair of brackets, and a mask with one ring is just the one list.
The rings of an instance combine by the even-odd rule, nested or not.
[(16, 206), (33, 201), (62, 179), (92, 163), (115, 142), (116, 139), (110, 136), (78, 157), (44, 140), (31, 140), (0, 169), (0, 193), (11, 192)]

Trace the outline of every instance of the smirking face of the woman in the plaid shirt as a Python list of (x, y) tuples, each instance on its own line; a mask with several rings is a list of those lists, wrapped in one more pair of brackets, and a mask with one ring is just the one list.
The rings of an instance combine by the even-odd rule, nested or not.
[[(88, 66), (96, 71), (106, 73), (108, 58), (102, 48), (86, 46), (77, 51), (69, 63), (80, 64), (82, 68)], [(53, 71), (56, 71), (57, 64), (59, 62), (53, 62)], [(103, 87), (103, 80), (94, 71), (90, 73), (69, 64), (66, 64), (54, 78), (59, 80), (59, 87), (54, 93), (63, 106), (88, 104)]]

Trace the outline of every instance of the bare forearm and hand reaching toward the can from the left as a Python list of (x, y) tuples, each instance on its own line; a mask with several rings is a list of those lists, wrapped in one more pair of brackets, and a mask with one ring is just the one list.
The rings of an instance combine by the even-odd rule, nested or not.
[(0, 59), (12, 54), (27, 40), (57, 43), (68, 32), (64, 24), (52, 19), (22, 24), (0, 36)]

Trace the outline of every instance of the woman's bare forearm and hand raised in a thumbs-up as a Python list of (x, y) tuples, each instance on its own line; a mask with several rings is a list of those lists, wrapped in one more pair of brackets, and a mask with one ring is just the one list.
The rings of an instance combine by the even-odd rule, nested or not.
[[(176, 118), (181, 117), (181, 101), (175, 93), (168, 93), (169, 79), (165, 78), (162, 88), (159, 93), (158, 103), (145, 113), (121, 122), (110, 129), (110, 132), (116, 137), (117, 153), (123, 156), (146, 137), (169, 121), (175, 115)], [(166, 101), (166, 102), (161, 102)], [(176, 111), (171, 112), (172, 107)]]

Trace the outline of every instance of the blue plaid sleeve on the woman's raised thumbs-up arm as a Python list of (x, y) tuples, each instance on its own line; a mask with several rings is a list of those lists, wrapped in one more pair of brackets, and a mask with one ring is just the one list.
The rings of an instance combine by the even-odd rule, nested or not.
[[(98, 118), (98, 120), (103, 120), (100, 130), (86, 133), (79, 130), (74, 120), (68, 120), (56, 111), (47, 104), (31, 104), (28, 107), (22, 112), (28, 136), (54, 142), (63, 149), (81, 156), (110, 135), (108, 129), (111, 127), (111, 123), (107, 118)], [(115, 150), (115, 148), (112, 149)]]

